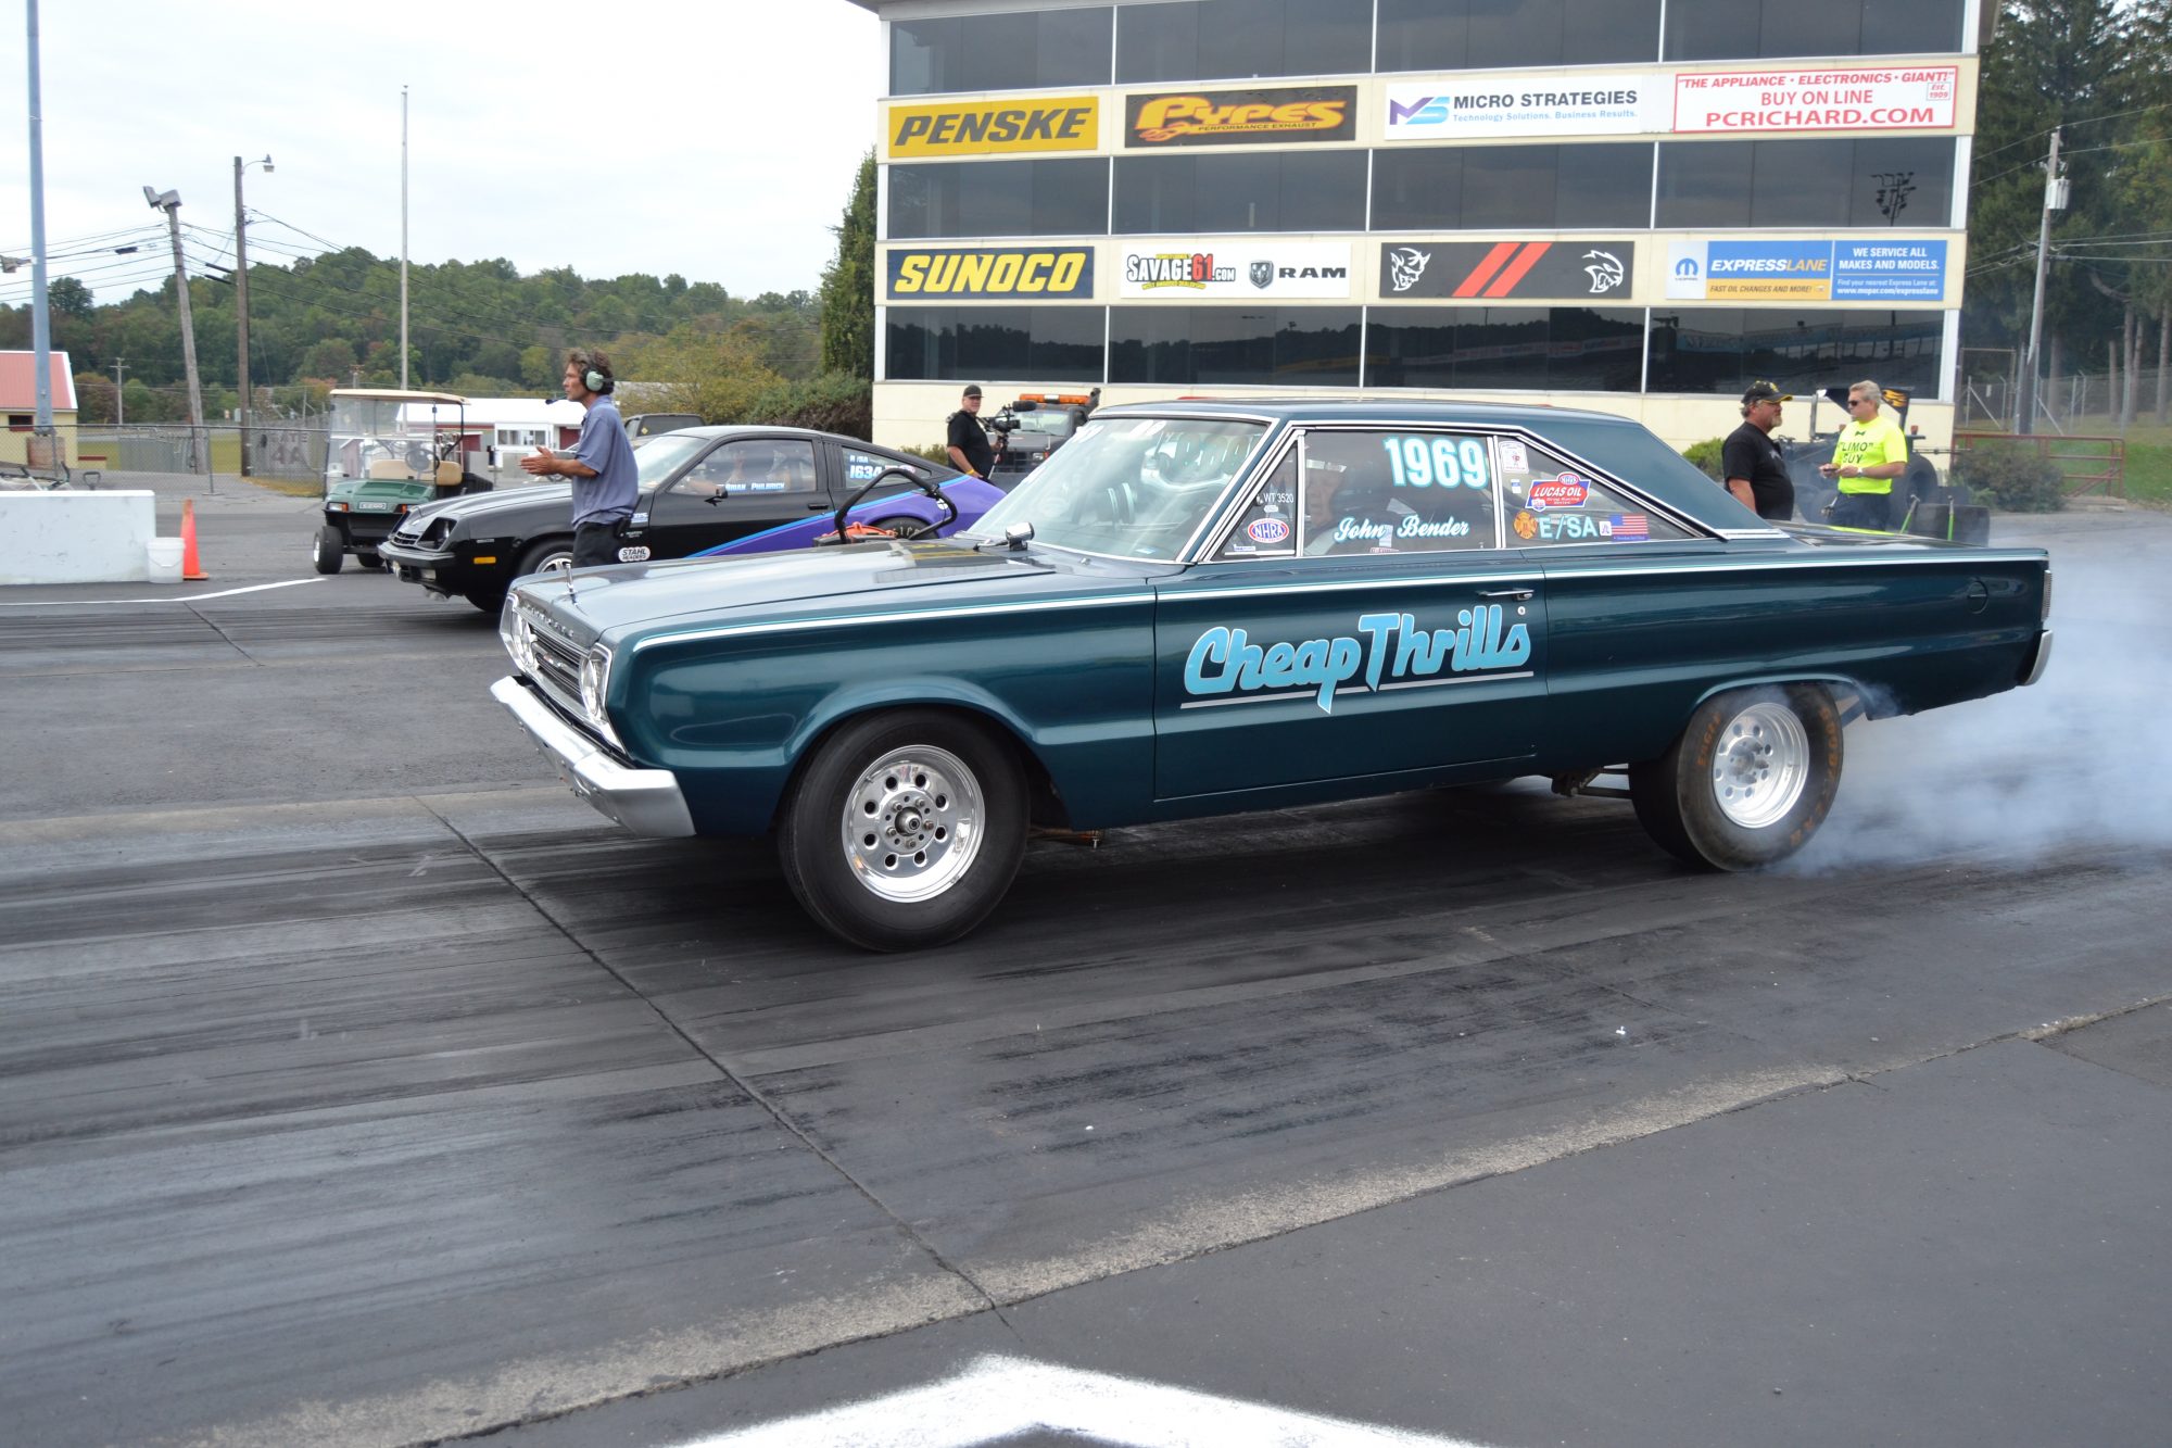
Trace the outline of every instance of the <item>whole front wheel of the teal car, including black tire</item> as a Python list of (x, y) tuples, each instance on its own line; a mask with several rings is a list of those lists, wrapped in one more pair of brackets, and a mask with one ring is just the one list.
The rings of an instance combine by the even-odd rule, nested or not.
[(832, 935), (869, 950), (958, 939), (1025, 857), (1025, 774), (973, 720), (908, 709), (845, 724), (793, 781), (784, 881)]

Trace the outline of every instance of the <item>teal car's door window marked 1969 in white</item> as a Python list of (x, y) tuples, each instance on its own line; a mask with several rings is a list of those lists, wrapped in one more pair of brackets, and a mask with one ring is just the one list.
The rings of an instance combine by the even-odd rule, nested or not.
[(1303, 550), (1444, 552), (1494, 546), (1488, 437), (1444, 430), (1305, 433)]

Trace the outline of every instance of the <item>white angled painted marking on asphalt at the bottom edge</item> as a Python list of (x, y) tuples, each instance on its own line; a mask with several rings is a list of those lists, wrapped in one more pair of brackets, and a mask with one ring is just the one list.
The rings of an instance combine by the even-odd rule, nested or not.
[(782, 1418), (680, 1448), (969, 1448), (1036, 1428), (1134, 1448), (1479, 1448), (1457, 1437), (1316, 1418), (1242, 1398), (995, 1355), (977, 1357), (958, 1376), (925, 1387)]

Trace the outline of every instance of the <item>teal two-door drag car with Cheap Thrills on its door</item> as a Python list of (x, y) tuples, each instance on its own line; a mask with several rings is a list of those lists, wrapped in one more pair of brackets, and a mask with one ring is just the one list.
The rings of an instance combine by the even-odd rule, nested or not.
[(1034, 824), (1627, 772), (1746, 870), (1842, 724), (2035, 683), (2042, 550), (1772, 526), (1620, 417), (1449, 402), (1097, 413), (951, 539), (530, 578), (493, 687), (643, 835), (773, 835), (838, 937), (971, 931)]

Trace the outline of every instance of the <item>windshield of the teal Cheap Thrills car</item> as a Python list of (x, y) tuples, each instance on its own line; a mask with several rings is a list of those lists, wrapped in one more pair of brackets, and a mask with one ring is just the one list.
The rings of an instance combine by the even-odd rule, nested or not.
[(999, 539), (1025, 522), (1036, 544), (1173, 559), (1264, 435), (1264, 422), (1095, 417), (988, 509), (973, 537)]

